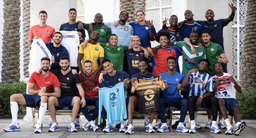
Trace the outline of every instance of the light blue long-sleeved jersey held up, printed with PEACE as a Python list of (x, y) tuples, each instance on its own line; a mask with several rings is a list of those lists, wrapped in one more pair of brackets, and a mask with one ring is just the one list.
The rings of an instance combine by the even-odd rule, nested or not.
[[(123, 83), (116, 84), (108, 88), (99, 90), (99, 118), (101, 118), (102, 105), (107, 112), (108, 125), (123, 123), (127, 119), (126, 113), (126, 91)], [(100, 121), (98, 121), (100, 125)]]

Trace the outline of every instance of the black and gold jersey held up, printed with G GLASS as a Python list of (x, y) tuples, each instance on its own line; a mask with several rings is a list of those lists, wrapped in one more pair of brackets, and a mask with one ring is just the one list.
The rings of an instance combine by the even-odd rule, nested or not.
[(137, 93), (140, 113), (159, 111), (160, 93), (165, 89), (160, 77), (137, 78), (132, 83), (131, 92)]

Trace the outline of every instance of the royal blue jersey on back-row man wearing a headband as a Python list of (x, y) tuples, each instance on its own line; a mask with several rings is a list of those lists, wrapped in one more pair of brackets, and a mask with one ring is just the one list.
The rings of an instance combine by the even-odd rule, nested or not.
[[(137, 35), (140, 37), (141, 46), (142, 47), (151, 47), (150, 39), (149, 39), (149, 27), (145, 24), (141, 25), (139, 22), (132, 22), (129, 24), (133, 28), (133, 35)], [(156, 29), (153, 26), (153, 35), (155, 35)]]

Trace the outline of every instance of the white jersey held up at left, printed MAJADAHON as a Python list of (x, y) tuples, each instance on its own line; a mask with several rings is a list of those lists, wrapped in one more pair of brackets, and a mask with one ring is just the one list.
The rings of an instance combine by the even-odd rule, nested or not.
[(42, 39), (34, 39), (30, 47), (29, 74), (31, 75), (33, 72), (41, 68), (41, 58), (45, 56), (51, 58), (52, 54)]

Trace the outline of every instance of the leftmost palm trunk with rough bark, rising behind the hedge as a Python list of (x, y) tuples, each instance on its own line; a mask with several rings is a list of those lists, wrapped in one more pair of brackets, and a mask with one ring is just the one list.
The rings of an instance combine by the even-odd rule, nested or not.
[(2, 82), (20, 80), (20, 0), (3, 0), (4, 29), (2, 55)]

